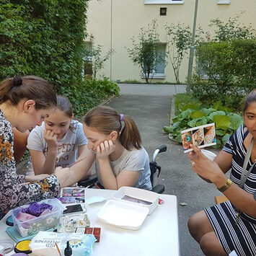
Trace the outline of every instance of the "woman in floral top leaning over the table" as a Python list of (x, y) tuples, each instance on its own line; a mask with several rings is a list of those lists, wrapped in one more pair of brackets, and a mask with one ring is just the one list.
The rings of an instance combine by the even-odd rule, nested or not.
[(70, 184), (68, 168), (56, 169), (50, 176), (16, 173), (12, 128), (24, 133), (41, 125), (55, 105), (56, 94), (45, 79), (15, 76), (0, 82), (0, 219), (16, 206), (56, 197), (61, 186)]

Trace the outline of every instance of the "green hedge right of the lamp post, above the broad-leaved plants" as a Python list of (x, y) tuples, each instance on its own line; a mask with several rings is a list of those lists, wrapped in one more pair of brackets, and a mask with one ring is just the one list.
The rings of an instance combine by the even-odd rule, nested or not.
[(244, 95), (256, 87), (256, 40), (200, 43), (196, 59), (193, 95), (201, 102), (221, 100), (223, 105), (239, 110)]

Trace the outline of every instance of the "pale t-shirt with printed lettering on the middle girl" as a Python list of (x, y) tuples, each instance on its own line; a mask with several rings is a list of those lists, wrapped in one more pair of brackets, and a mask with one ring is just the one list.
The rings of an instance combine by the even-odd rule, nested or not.
[[(58, 149), (56, 155), (56, 167), (68, 167), (69, 164), (76, 162), (78, 147), (87, 144), (87, 138), (84, 135), (83, 125), (76, 120), (71, 121), (73, 129), (69, 128), (64, 137), (58, 141)], [(27, 139), (27, 149), (42, 151), (47, 156), (48, 144), (43, 138), (45, 131), (45, 123), (36, 126)], [(27, 164), (27, 175), (34, 175), (32, 162)]]

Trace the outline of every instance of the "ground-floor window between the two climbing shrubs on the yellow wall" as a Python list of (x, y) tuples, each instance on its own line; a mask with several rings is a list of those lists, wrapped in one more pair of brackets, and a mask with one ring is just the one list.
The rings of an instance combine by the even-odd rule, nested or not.
[[(166, 56), (166, 43), (158, 43), (156, 47), (156, 56), (158, 60), (154, 66), (154, 70), (149, 74), (149, 78), (154, 79), (165, 79), (164, 69), (165, 69), (165, 56)], [(142, 74), (142, 78), (145, 78), (145, 75)]]

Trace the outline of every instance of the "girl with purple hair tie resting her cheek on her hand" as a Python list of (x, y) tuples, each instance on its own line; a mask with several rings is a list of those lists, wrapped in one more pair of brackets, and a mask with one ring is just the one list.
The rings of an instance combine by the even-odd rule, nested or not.
[(84, 116), (84, 133), (96, 158), (98, 180), (105, 189), (151, 189), (149, 155), (132, 118), (111, 107), (94, 107)]

